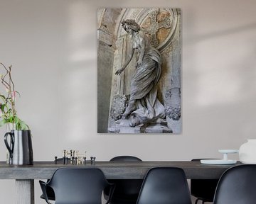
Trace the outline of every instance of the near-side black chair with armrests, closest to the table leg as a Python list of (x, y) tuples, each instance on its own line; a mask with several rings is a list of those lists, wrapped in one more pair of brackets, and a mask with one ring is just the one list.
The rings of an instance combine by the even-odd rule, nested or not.
[[(107, 186), (113, 187), (100, 169), (57, 169), (47, 183), (39, 183), (49, 204), (46, 186), (53, 188), (55, 204), (102, 204), (102, 192)], [(111, 198), (114, 187), (110, 189)]]

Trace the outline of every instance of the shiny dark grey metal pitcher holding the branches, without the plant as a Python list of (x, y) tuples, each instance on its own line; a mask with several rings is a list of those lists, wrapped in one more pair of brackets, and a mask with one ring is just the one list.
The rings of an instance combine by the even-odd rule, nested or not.
[(4, 143), (10, 153), (9, 164), (33, 164), (30, 130), (11, 130), (11, 132), (6, 132)]

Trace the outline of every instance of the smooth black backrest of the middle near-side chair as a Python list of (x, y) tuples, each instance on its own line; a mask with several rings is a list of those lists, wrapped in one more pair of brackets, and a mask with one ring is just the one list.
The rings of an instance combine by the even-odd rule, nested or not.
[(191, 204), (188, 182), (183, 169), (149, 169), (142, 183), (137, 204)]

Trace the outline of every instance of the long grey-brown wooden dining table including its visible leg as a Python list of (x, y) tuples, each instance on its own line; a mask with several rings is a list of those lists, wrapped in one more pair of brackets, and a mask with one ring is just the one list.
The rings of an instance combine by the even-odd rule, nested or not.
[(158, 162), (95, 162), (86, 164), (63, 164), (59, 162), (34, 162), (33, 165), (10, 165), (0, 162), (0, 179), (16, 180), (16, 203), (34, 204), (34, 179), (50, 179), (59, 168), (99, 168), (107, 179), (144, 179), (149, 169), (157, 166), (179, 167), (187, 179), (219, 179), (231, 166), (201, 164), (200, 161), (158, 161)]

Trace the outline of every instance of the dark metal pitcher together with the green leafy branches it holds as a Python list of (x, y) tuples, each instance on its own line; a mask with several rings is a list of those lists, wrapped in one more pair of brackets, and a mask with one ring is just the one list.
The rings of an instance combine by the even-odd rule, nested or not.
[(5, 94), (0, 92), (0, 127), (12, 126), (4, 135), (4, 143), (9, 151), (9, 159), (6, 162), (14, 165), (33, 164), (31, 130), (23, 120), (18, 118), (16, 112), (16, 96), (20, 94), (16, 91), (11, 77), (11, 66), (6, 67), (1, 62), (0, 65), (4, 68), (4, 74), (0, 74), (1, 84), (6, 90)]

